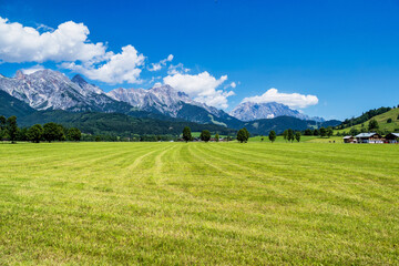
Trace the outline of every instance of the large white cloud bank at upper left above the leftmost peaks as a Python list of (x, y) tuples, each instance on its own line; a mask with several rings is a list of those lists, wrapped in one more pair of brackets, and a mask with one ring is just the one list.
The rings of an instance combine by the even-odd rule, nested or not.
[[(40, 33), (39, 30), (45, 32)], [(102, 42), (91, 43), (83, 23), (68, 21), (55, 30), (40, 24), (38, 29), (9, 22), (0, 17), (0, 62), (61, 62), (60, 66), (106, 83), (140, 83), (145, 57), (133, 45), (122, 52), (106, 51)], [(168, 55), (164, 61), (171, 61)], [(38, 70), (38, 69), (37, 69)], [(24, 72), (37, 71), (33, 69)]]

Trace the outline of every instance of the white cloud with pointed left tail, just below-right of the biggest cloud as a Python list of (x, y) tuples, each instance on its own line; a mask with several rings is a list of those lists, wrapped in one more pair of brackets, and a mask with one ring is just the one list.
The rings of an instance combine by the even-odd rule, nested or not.
[(102, 58), (95, 58), (82, 64), (74, 62), (63, 63), (62, 68), (81, 73), (91, 80), (106, 83), (141, 83), (140, 73), (144, 65), (145, 57), (132, 45), (122, 48), (121, 53), (108, 52)]

